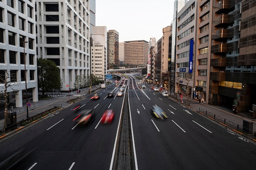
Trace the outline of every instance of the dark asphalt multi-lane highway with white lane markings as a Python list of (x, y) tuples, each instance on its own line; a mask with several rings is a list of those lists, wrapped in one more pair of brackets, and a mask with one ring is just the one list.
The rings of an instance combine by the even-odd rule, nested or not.
[[(122, 86), (112, 83), (97, 91), (100, 98), (87, 96), (75, 103), (80, 110), (93, 109), (96, 117), (86, 126), (77, 126), (76, 114), (71, 107), (39, 121), (14, 136), (0, 142), (0, 158), (18, 153), (20, 170), (107, 170), (112, 169), (119, 150), (118, 132), (121, 114), (130, 116), (129, 155), (132, 169), (245, 169), (256, 167), (256, 145), (239, 139), (237, 134), (210, 119), (189, 110), (170, 98), (154, 92), (150, 85), (141, 89), (135, 77), (128, 75), (124, 95), (116, 94)], [(122, 80), (121, 80), (122, 81)], [(115, 92), (108, 98), (108, 92)], [(124, 111), (124, 103), (128, 109)], [(150, 113), (157, 105), (167, 114), (159, 120)], [(101, 124), (107, 109), (115, 110), (112, 124)], [(22, 150), (21, 154), (18, 152)], [(126, 168), (124, 168), (126, 169)]]

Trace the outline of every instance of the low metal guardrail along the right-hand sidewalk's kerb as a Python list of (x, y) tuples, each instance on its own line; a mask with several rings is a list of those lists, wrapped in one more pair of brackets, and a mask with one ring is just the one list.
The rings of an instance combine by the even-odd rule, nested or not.
[[(225, 119), (221, 116), (218, 116), (216, 114), (213, 114), (211, 112), (207, 112), (207, 110), (204, 110), (202, 108), (199, 108), (199, 112), (201, 114), (204, 114), (205, 116), (208, 116), (210, 119), (213, 119), (214, 121), (218, 122), (218, 123), (222, 123), (224, 125), (226, 125), (229, 128), (235, 129), (238, 132), (247, 134), (247, 137), (252, 138), (252, 136), (254, 136), (254, 139), (256, 139), (256, 132), (252, 131), (251, 129), (244, 127), (243, 125), (238, 125), (232, 121), (229, 121), (228, 119)], [(251, 132), (251, 133), (246, 133), (246, 132)], [(248, 136), (250, 135), (250, 136)]]

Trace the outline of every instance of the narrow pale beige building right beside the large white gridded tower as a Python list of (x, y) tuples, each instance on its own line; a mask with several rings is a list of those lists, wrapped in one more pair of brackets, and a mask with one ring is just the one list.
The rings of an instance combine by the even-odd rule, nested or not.
[(107, 27), (92, 27), (91, 74), (105, 80), (107, 73)]

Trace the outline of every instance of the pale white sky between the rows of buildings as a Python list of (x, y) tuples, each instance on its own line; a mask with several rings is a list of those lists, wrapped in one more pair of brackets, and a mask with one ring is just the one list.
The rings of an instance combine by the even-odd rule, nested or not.
[(156, 41), (171, 25), (174, 0), (96, 0), (96, 26), (119, 33), (119, 42)]

